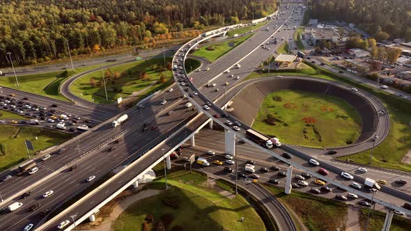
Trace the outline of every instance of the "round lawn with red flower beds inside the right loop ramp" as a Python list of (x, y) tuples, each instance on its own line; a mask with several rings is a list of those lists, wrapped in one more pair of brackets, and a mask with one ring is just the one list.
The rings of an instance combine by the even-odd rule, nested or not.
[[(281, 101), (274, 97), (281, 97)], [(287, 109), (286, 105), (295, 107)], [(267, 116), (277, 118), (275, 125)], [(303, 118), (316, 122), (306, 123)], [(301, 90), (268, 94), (252, 127), (282, 142), (307, 147), (339, 147), (354, 143), (361, 131), (357, 111), (343, 99)]]

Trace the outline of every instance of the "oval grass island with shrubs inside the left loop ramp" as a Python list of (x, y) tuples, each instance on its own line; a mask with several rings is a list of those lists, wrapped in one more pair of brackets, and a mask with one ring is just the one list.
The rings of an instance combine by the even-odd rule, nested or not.
[[(166, 62), (171, 61), (171, 58), (166, 57)], [(164, 83), (160, 83), (160, 77), (164, 74), (164, 60), (163, 58), (150, 58), (148, 60), (134, 61), (132, 63), (125, 63), (122, 65), (116, 65), (110, 67), (109, 70), (114, 74), (118, 72), (121, 74), (119, 79), (115, 79), (114, 82), (109, 81), (107, 78), (106, 88), (109, 102), (116, 102), (118, 97), (127, 97), (133, 92), (144, 90), (140, 93), (139, 97), (144, 97), (146, 94), (151, 93), (153, 90), (159, 90), (165, 86), (169, 86), (172, 83), (172, 72), (166, 71), (166, 79)], [(104, 69), (104, 74), (108, 72)], [(141, 79), (140, 73), (146, 72), (148, 74), (147, 79)], [(102, 71), (98, 70), (84, 75), (83, 77), (76, 79), (70, 85), (70, 91), (90, 102), (96, 102), (99, 104), (106, 104), (106, 98), (104, 93), (104, 86), (92, 86), (91, 79), (95, 79), (95, 82), (102, 81)], [(150, 86), (150, 84), (154, 84)]]

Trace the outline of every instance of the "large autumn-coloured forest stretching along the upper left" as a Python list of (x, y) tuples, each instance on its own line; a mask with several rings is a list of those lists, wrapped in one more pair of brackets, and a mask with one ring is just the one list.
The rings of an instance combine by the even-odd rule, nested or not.
[(277, 0), (3, 0), (0, 67), (191, 38), (277, 10)]

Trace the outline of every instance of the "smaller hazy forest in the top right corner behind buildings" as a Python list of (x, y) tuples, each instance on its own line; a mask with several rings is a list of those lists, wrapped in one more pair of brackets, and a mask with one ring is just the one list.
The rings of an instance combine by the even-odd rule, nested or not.
[(411, 41), (411, 1), (311, 0), (311, 18), (352, 22), (377, 41)]

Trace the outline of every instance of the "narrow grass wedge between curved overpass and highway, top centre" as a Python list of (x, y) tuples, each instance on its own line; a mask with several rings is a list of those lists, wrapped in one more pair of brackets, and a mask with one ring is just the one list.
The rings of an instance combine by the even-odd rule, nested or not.
[[(240, 45), (245, 40), (251, 38), (252, 35), (254, 35), (254, 33), (250, 33), (249, 35), (245, 35), (245, 36), (240, 37), (240, 38), (235, 38), (234, 40), (228, 40), (228, 41), (225, 41), (225, 42), (221, 42), (221, 43), (218, 43), (218, 44), (215, 44), (215, 45), (211, 45), (211, 46), (206, 45), (206, 46), (201, 47), (200, 49), (194, 51), (193, 55), (194, 56), (201, 56), (203, 58), (206, 58), (210, 62), (214, 62), (219, 57), (224, 56), (224, 54), (227, 54), (228, 51), (231, 51), (231, 49), (234, 49), (235, 47)], [(234, 47), (228, 47), (229, 42), (234, 42)], [(209, 50), (206, 49), (207, 47), (212, 47), (214, 50), (209, 51)]]

